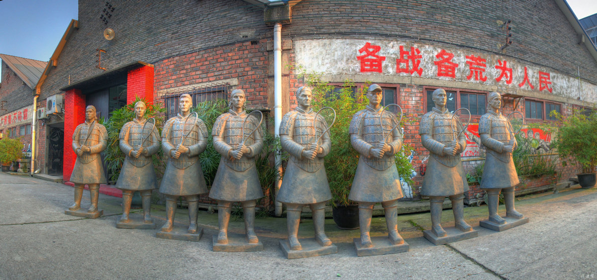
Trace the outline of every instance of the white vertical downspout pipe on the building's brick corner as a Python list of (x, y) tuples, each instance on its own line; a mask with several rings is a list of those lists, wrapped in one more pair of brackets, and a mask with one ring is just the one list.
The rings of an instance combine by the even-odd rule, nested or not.
[[(280, 137), (280, 123), (282, 122), (282, 24), (277, 22), (273, 26), (273, 118), (274, 135)], [(276, 166), (282, 171), (282, 152), (276, 150)], [(281, 172), (280, 172), (281, 173)], [(275, 216), (282, 216), (282, 202), (278, 202), (278, 190), (282, 185), (282, 178), (276, 180), (275, 185)]]

